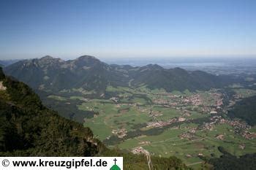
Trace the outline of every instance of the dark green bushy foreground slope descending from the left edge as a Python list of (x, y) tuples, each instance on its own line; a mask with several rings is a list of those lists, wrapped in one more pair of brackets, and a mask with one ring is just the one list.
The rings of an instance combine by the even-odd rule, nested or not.
[[(123, 156), (124, 169), (148, 169), (145, 156), (108, 150), (89, 128), (44, 107), (31, 88), (1, 68), (0, 156)], [(187, 169), (174, 157), (151, 161), (153, 169)]]

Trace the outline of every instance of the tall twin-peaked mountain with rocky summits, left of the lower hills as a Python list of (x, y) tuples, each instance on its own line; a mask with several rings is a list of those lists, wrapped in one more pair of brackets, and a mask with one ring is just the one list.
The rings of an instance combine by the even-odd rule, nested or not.
[(45, 56), (20, 61), (5, 68), (7, 74), (28, 83), (34, 89), (59, 91), (84, 88), (104, 93), (109, 84), (122, 85), (121, 77), (106, 63), (89, 55), (72, 61)]

